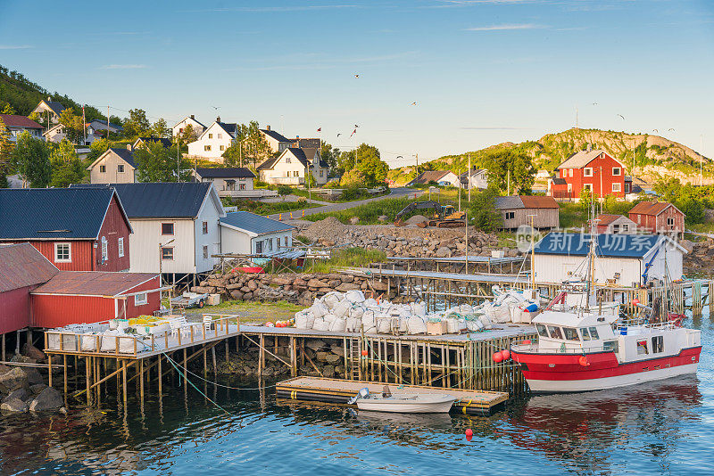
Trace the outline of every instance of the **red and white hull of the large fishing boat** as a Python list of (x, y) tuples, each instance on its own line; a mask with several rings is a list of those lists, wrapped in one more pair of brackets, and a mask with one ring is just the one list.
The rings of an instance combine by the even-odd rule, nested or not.
[(702, 347), (682, 349), (676, 356), (657, 357), (620, 364), (612, 352), (543, 354), (511, 351), (521, 365), (528, 387), (534, 393), (569, 393), (607, 390), (642, 382), (696, 373)]

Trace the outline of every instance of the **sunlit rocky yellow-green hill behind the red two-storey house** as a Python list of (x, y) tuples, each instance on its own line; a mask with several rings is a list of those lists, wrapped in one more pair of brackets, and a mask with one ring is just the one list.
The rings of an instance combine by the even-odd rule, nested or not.
[[(587, 144), (604, 149), (612, 157), (623, 162), (629, 175), (642, 177), (647, 181), (656, 181), (663, 177), (677, 176), (683, 182), (699, 183), (699, 154), (689, 147), (660, 135), (627, 134), (626, 132), (572, 128), (557, 134), (546, 134), (537, 141), (519, 144), (502, 143), (474, 152), (459, 155), (446, 155), (419, 165), (420, 170), (451, 169), (463, 172), (468, 167), (469, 153), (471, 164), (478, 167), (485, 152), (499, 149), (515, 149), (527, 153), (533, 158), (535, 168), (552, 172), (571, 154), (582, 151)], [(635, 155), (635, 173), (633, 174), (633, 151)], [(704, 157), (703, 182), (714, 183), (714, 162)], [(413, 167), (394, 168), (388, 178), (403, 185), (415, 176)]]

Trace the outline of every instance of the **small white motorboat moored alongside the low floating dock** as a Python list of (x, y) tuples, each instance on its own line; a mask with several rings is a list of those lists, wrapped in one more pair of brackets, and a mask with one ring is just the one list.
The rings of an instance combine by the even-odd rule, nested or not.
[(364, 388), (350, 400), (360, 410), (399, 414), (445, 414), (451, 410), (455, 397), (443, 393), (403, 393), (392, 395), (388, 387), (381, 394)]

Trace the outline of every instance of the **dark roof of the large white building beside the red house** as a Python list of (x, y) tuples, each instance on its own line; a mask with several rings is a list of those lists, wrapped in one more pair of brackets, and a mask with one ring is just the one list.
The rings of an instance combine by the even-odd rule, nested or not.
[(212, 186), (209, 182), (72, 185), (76, 188), (115, 188), (129, 218), (198, 217)]

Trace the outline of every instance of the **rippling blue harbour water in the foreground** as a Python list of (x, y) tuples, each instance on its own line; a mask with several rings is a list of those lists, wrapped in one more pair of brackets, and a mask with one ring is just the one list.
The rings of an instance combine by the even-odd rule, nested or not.
[(703, 332), (696, 377), (535, 397), (490, 418), (384, 420), (217, 390), (227, 416), (179, 389), (144, 416), (104, 400), (102, 411), (2, 418), (0, 462), (7, 474), (714, 474), (714, 324), (688, 324)]

